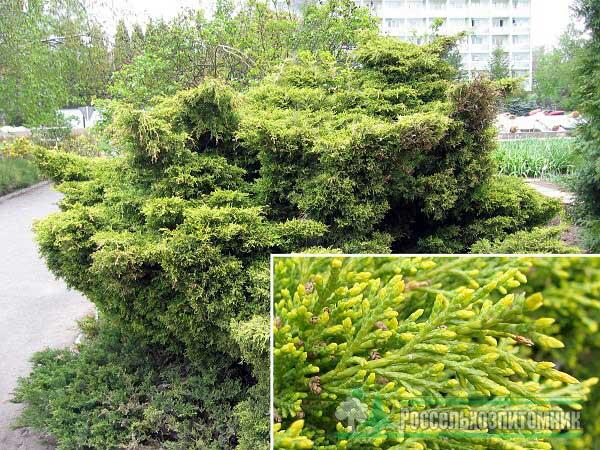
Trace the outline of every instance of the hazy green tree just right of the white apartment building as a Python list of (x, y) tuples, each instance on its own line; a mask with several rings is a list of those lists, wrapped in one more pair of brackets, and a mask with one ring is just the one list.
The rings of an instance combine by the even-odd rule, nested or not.
[(556, 48), (543, 51), (534, 73), (534, 91), (540, 103), (565, 109), (577, 107), (576, 58), (584, 41), (582, 33), (571, 24)]

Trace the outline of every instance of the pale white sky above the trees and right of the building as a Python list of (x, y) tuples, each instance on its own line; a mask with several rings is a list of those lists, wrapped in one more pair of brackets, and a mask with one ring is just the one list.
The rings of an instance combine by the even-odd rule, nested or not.
[[(534, 47), (554, 46), (558, 37), (570, 21), (570, 6), (574, 0), (532, 0), (532, 43)], [(202, 0), (104, 0), (92, 4), (102, 5), (100, 15), (110, 22), (106, 11), (113, 10), (114, 16), (124, 15), (128, 22), (144, 23), (147, 18), (165, 19), (177, 15), (181, 9), (198, 8)]]

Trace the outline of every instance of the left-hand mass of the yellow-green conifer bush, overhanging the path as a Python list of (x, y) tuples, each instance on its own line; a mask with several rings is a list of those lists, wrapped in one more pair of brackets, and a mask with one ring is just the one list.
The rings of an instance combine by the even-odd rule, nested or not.
[(36, 149), (65, 194), (36, 233), (49, 268), (140, 343), (184, 367), (243, 363), (232, 373), (246, 390), (258, 385), (237, 395), (239, 423), (228, 426), (239, 448), (265, 448), (268, 339), (256, 329), (268, 335), (268, 255), (315, 245), (326, 227), (268, 220), (251, 198), (231, 153), (234, 97), (215, 82), (148, 110), (119, 109), (123, 157)]

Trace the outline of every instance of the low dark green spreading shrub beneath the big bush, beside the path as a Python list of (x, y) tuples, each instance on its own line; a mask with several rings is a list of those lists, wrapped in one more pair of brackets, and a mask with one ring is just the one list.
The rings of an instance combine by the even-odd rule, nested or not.
[(234, 407), (248, 388), (243, 367), (194, 366), (107, 322), (85, 329), (77, 352), (35, 355), (15, 394), (27, 403), (18, 426), (52, 434), (58, 450), (235, 447)]

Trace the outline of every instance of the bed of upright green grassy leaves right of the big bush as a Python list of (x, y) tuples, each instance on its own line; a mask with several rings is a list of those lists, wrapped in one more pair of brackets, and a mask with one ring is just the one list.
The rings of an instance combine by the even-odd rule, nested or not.
[(515, 139), (500, 141), (494, 151), (500, 173), (517, 177), (545, 178), (571, 175), (579, 165), (576, 140)]

